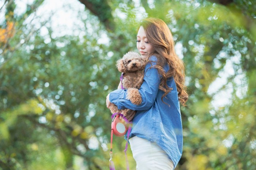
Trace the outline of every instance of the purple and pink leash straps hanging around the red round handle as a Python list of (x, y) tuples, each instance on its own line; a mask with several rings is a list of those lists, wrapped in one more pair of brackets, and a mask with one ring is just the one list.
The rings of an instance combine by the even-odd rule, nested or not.
[[(114, 113), (111, 118), (113, 119), (114, 116), (116, 114), (119, 114), (124, 120), (125, 122), (129, 123), (129, 127), (128, 127), (128, 131), (127, 131), (127, 142), (126, 142), (126, 145), (125, 145), (125, 149), (124, 149), (124, 153), (125, 153), (125, 161), (126, 161), (126, 168), (127, 170), (129, 170), (129, 163), (128, 163), (128, 158), (127, 158), (127, 148), (128, 148), (128, 139), (129, 139), (129, 135), (131, 133), (131, 130), (132, 130), (132, 126), (131, 126), (131, 122), (129, 122), (127, 120), (127, 118), (125, 118), (125, 116), (121, 113)], [(115, 166), (114, 166), (114, 162), (112, 161), (112, 155), (113, 155), (113, 149), (112, 149), (112, 142), (113, 142), (113, 129), (111, 129), (111, 139), (110, 139), (110, 159), (109, 159), (109, 169), (110, 170), (115, 170)]]

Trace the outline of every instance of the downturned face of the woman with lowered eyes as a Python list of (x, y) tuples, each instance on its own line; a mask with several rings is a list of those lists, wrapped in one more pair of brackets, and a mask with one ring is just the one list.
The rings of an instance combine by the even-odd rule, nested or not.
[(137, 35), (137, 48), (143, 59), (146, 59), (153, 51), (153, 46), (148, 42), (146, 32), (141, 26)]

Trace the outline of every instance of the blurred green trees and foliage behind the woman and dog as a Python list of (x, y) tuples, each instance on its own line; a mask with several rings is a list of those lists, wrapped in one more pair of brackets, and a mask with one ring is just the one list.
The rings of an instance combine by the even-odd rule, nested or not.
[[(0, 0), (1, 169), (109, 169), (105, 99), (147, 16), (186, 66), (176, 169), (256, 169), (255, 0)], [(114, 136), (117, 170), (124, 148)]]

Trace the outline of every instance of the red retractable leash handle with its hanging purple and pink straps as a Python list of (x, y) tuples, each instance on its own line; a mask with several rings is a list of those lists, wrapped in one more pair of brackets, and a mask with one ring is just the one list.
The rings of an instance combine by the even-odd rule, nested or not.
[[(122, 117), (122, 119), (120, 119), (120, 117)], [(129, 135), (131, 133), (132, 130), (132, 123), (129, 122), (125, 116), (121, 113), (114, 113), (112, 116), (112, 123), (111, 123), (111, 139), (110, 139), (110, 159), (109, 159), (109, 169), (110, 170), (115, 170), (115, 166), (114, 166), (114, 162), (112, 161), (112, 155), (113, 155), (113, 149), (112, 149), (112, 142), (113, 142), (113, 134), (121, 137), (123, 135), (126, 134), (127, 132), (127, 142), (126, 142), (126, 146), (125, 146), (125, 160), (126, 160), (126, 167), (127, 170), (129, 170), (129, 164), (128, 164), (128, 158), (127, 158), (127, 148), (128, 148), (128, 139), (129, 139)]]

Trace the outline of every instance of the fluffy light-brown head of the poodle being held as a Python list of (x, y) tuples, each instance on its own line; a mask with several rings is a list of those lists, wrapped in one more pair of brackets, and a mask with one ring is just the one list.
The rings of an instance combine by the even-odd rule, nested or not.
[(120, 72), (137, 71), (145, 68), (145, 61), (136, 52), (127, 52), (123, 58), (117, 61), (117, 69)]

